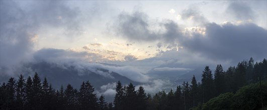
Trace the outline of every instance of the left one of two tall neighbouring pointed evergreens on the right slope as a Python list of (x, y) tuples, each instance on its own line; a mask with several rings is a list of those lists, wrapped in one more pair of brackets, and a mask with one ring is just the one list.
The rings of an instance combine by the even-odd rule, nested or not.
[(206, 66), (202, 74), (203, 101), (206, 102), (214, 96), (213, 76), (209, 66)]

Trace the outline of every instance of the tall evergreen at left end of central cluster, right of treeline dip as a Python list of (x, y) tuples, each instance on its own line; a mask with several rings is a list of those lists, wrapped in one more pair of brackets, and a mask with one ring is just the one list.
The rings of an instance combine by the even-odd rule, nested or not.
[(115, 110), (122, 110), (123, 109), (123, 102), (124, 102), (124, 89), (122, 86), (121, 81), (118, 81), (116, 84), (116, 94), (114, 97), (114, 109)]

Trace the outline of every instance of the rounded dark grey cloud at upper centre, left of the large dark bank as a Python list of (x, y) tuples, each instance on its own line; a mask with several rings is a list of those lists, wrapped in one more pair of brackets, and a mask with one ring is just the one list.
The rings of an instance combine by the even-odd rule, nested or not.
[(126, 37), (130, 40), (138, 41), (155, 41), (162, 40), (171, 44), (175, 43), (175, 39), (182, 36), (180, 27), (172, 20), (165, 20), (164, 22), (153, 22), (166, 31), (160, 33), (149, 29), (154, 25), (149, 23), (147, 14), (140, 11), (133, 13), (122, 12), (118, 15), (115, 21), (115, 31), (117, 34)]

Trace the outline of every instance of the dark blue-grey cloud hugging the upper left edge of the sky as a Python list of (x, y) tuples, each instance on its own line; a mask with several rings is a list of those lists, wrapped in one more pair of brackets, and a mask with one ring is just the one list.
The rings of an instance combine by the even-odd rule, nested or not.
[[(31, 51), (26, 13), (14, 1), (0, 1), (1, 66), (13, 66)], [(23, 23), (23, 24), (22, 24)]]

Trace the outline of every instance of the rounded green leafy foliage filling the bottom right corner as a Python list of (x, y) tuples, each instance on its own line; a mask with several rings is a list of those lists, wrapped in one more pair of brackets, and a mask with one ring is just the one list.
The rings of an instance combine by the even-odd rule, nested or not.
[[(267, 82), (262, 83), (262, 99), (267, 106)], [(234, 94), (227, 92), (211, 98), (204, 104), (199, 104), (192, 109), (259, 109), (261, 96), (259, 83), (243, 86)]]

